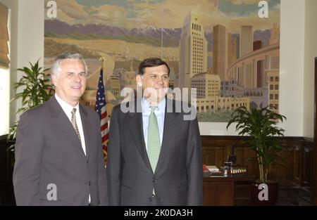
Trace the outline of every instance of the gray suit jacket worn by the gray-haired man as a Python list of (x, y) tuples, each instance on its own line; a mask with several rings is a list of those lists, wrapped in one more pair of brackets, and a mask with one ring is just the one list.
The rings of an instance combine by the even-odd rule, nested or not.
[(100, 119), (83, 105), (80, 116), (87, 155), (54, 96), (20, 117), (13, 172), (17, 205), (88, 205), (89, 194), (92, 205), (108, 205)]

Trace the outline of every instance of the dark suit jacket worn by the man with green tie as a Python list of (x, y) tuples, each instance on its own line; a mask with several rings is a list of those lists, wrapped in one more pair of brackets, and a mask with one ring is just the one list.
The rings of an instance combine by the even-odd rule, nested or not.
[[(137, 106), (137, 101), (129, 103)], [(168, 108), (166, 103), (166, 108)], [(153, 172), (142, 129), (142, 112), (113, 108), (109, 131), (109, 205), (202, 205), (203, 172), (197, 118), (166, 110), (161, 153)], [(152, 197), (153, 188), (156, 196)]]

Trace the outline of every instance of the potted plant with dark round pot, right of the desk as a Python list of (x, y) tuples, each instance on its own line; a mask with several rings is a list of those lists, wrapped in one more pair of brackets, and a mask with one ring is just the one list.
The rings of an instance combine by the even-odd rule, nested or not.
[[(273, 205), (278, 198), (278, 183), (268, 179), (271, 164), (283, 164), (279, 153), (285, 148), (278, 143), (275, 136), (284, 136), (284, 129), (281, 129), (276, 124), (279, 121), (286, 119), (266, 108), (252, 109), (248, 111), (242, 106), (232, 112), (232, 119), (228, 122), (227, 129), (230, 124), (237, 123), (235, 131), (239, 135), (248, 135), (247, 144), (254, 150), (256, 157), (248, 160), (256, 160), (259, 165), (259, 179), (250, 186), (250, 197), (256, 205)], [(268, 187), (267, 198), (261, 198), (259, 193), (262, 186)]]

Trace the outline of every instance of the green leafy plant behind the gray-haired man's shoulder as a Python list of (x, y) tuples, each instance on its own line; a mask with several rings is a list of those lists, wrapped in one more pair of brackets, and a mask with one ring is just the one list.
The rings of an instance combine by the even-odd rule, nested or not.
[[(19, 71), (24, 72), (25, 75), (23, 75), (19, 82), (15, 82), (13, 85), (15, 92), (19, 88), (23, 89), (22, 92), (15, 93), (15, 96), (11, 99), (11, 101), (13, 101), (22, 98), (22, 107), (15, 111), (16, 114), (23, 114), (26, 110), (34, 108), (49, 100), (53, 91), (51, 84), (49, 84), (49, 75), (45, 74), (45, 71), (49, 69), (39, 67), (39, 60), (37, 60), (34, 65), (30, 63), (30, 66), (30, 68), (23, 67), (18, 69)], [(18, 121), (15, 121), (13, 126), (10, 127), (7, 136), (7, 142), (10, 143), (8, 150), (13, 152), (15, 150), (15, 134), (17, 126)]]

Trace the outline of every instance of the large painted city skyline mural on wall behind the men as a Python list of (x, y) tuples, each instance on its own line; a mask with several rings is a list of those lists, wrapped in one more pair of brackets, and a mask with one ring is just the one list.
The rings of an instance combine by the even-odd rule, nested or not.
[[(47, 2), (47, 1), (46, 1)], [(83, 103), (94, 108), (104, 56), (107, 110), (135, 89), (139, 63), (158, 56), (172, 88), (196, 88), (200, 122), (225, 122), (238, 106), (278, 111), (280, 0), (56, 1), (45, 20), (45, 64), (61, 51), (82, 53), (89, 75)]]

